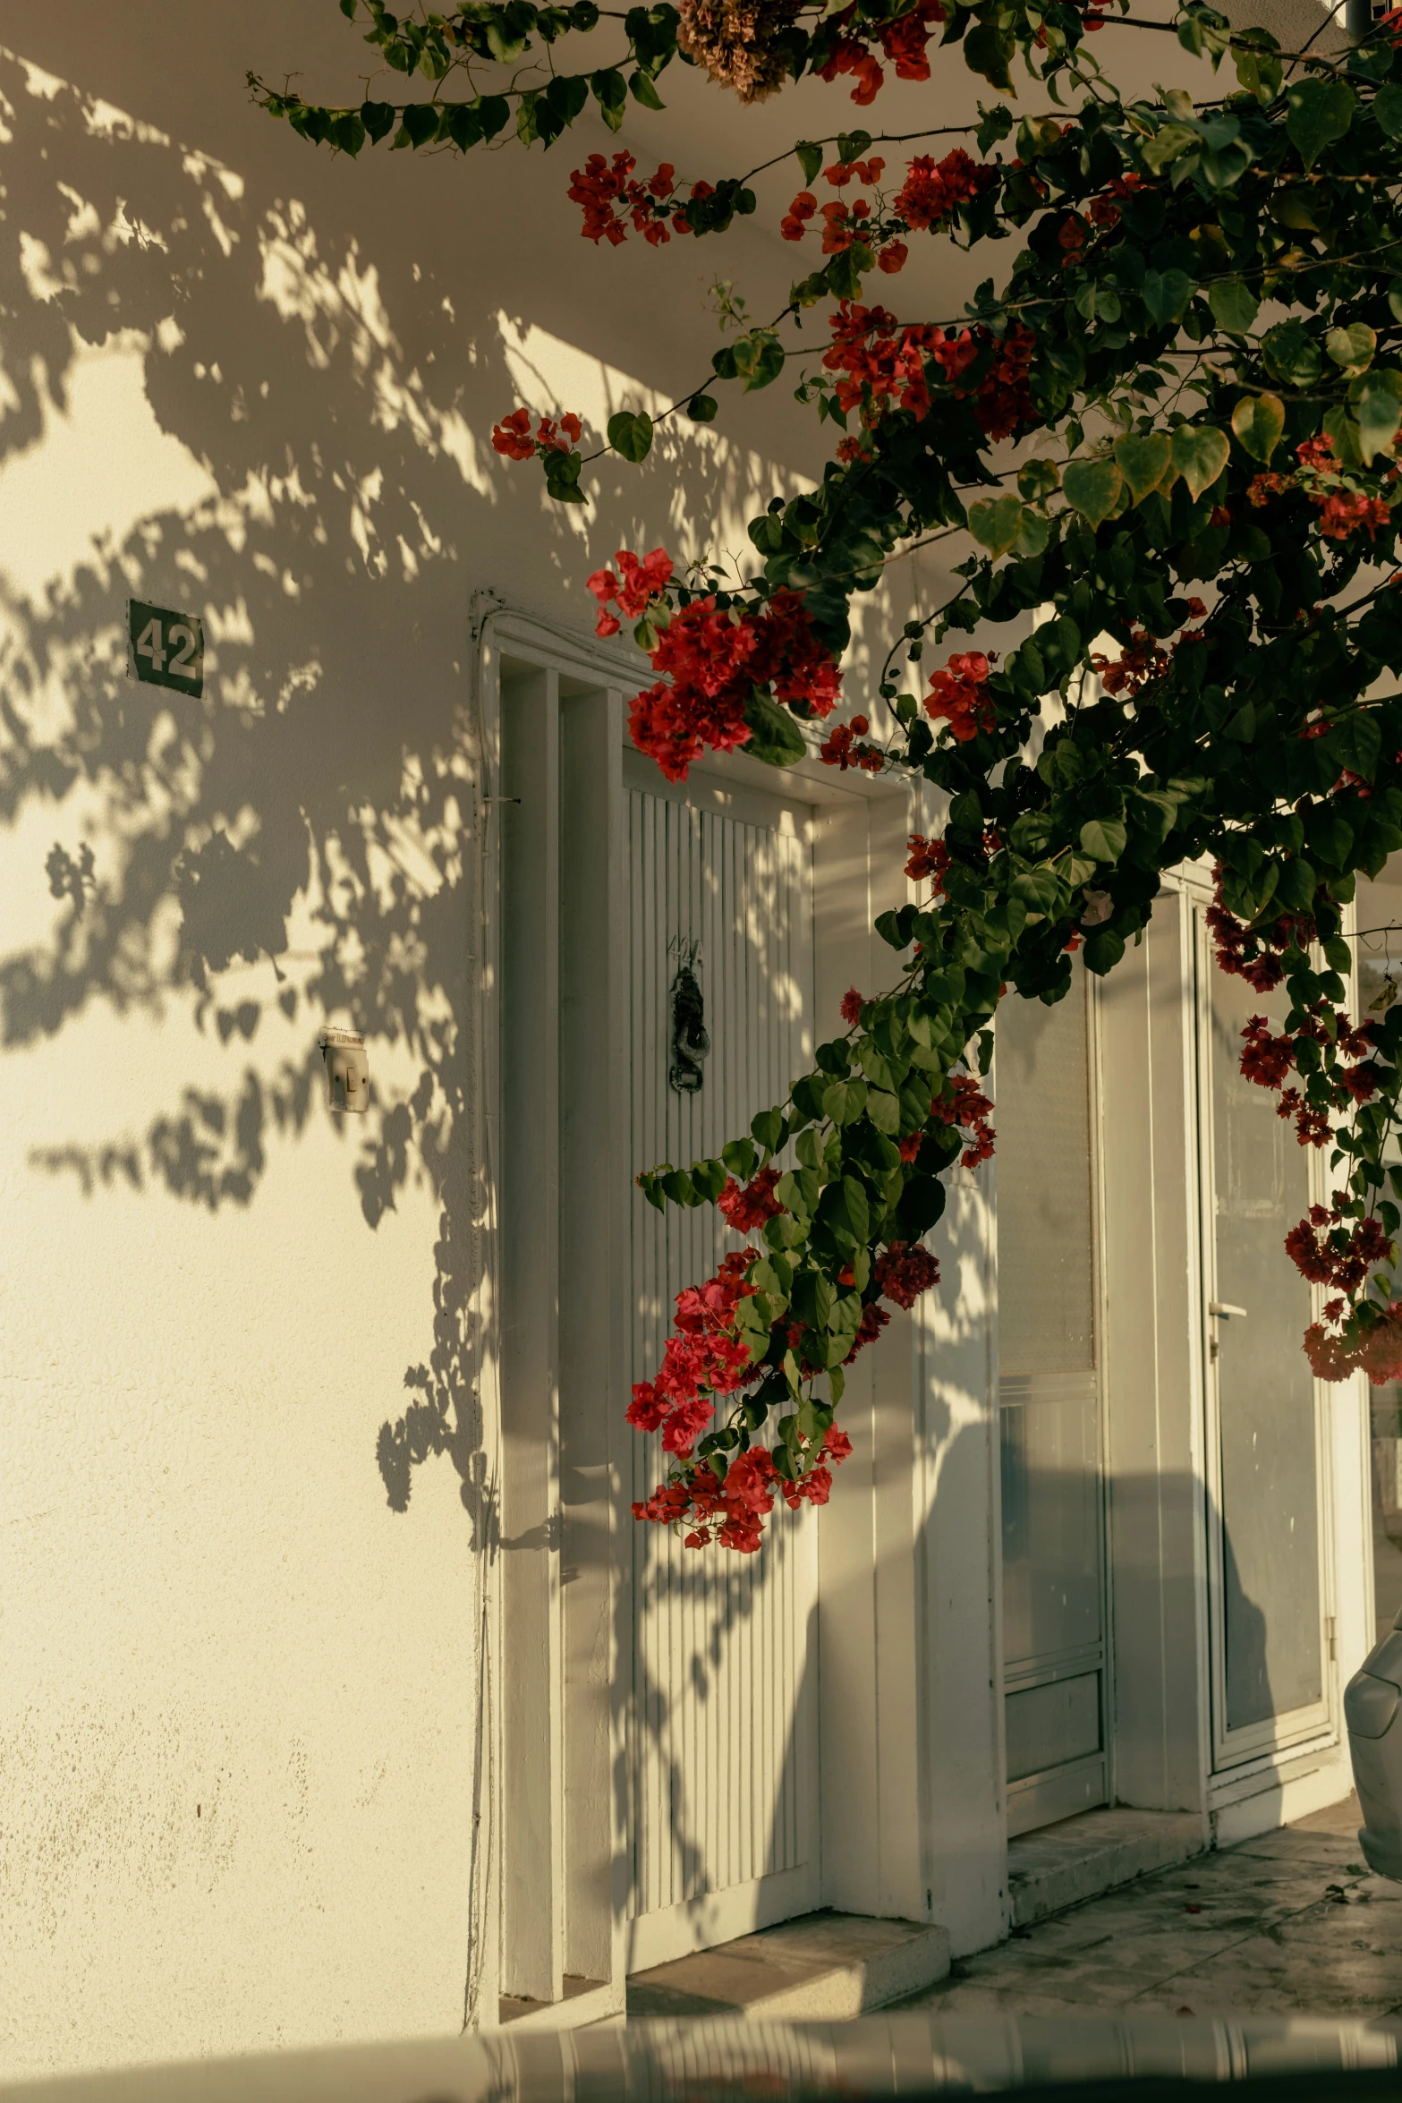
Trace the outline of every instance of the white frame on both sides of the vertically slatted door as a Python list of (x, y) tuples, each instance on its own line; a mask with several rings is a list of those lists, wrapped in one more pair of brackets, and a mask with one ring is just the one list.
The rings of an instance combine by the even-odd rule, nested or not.
[[(483, 1411), (498, 1441), (500, 1552), (492, 1569), (494, 1699), (492, 1891), (500, 1954), (483, 1966), (483, 2019), (496, 1992), (528, 2025), (572, 2025), (622, 2006), (626, 1971), (626, 1775), (620, 1630), (631, 1621), (628, 1560), (620, 1533), (633, 1525), (618, 1466), (626, 1394), (626, 1058), (610, 1030), (624, 1012), (620, 927), (624, 696), (643, 677), (637, 652), (534, 620), (490, 612), (481, 625), (479, 742), (486, 778), (486, 898), (481, 944), (479, 1121), (488, 1342)], [(511, 690), (511, 679), (517, 688)], [(502, 709), (530, 713), (534, 732), (504, 751)], [(557, 728), (551, 728), (557, 726)], [(511, 778), (502, 780), (502, 759)], [(816, 755), (774, 770), (744, 753), (708, 772), (818, 805), (816, 816), (816, 1014), (820, 1035), (849, 984), (879, 991), (891, 953), (872, 921), (906, 898), (904, 782), (839, 776)], [(570, 793), (561, 795), (568, 780)], [(580, 791), (589, 789), (586, 795)], [(521, 797), (521, 803), (502, 797)], [(576, 826), (576, 845), (559, 826)], [(511, 835), (534, 829), (536, 879), (515, 885)], [(576, 881), (586, 843), (595, 892)], [(565, 854), (570, 881), (551, 879)], [(511, 885), (511, 900), (504, 898)], [(563, 900), (563, 904), (561, 904)], [(525, 942), (525, 976), (507, 974)], [(580, 915), (568, 927), (561, 913)], [(532, 923), (534, 915), (534, 923)], [(513, 978), (519, 986), (513, 993)], [(572, 1009), (572, 1049), (591, 1047), (591, 1081), (578, 1068), (591, 1117), (572, 1117), (572, 1062), (561, 1064), (549, 1024), (551, 978)], [(515, 1014), (509, 1018), (509, 1007)], [(511, 1081), (538, 1104), (534, 1129), (511, 1129)], [(496, 1064), (494, 1064), (496, 1062)], [(603, 1115), (597, 1104), (605, 1102)], [(549, 1129), (559, 1146), (549, 1159)], [(591, 1163), (591, 1165), (586, 1165)], [(507, 1167), (528, 1178), (525, 1207), (511, 1199)], [(578, 1169), (584, 1169), (582, 1173)], [(557, 1192), (557, 1222), (540, 1218)], [(589, 1201), (580, 1192), (591, 1192)], [(599, 1192), (612, 1192), (605, 1199)], [(570, 1205), (582, 1218), (570, 1224)], [(599, 1211), (603, 1205), (603, 1213)], [(607, 1232), (599, 1220), (607, 1216)], [(534, 1218), (534, 1226), (528, 1222)], [(559, 1264), (559, 1247), (589, 1241), (595, 1277)], [(565, 1274), (570, 1272), (570, 1277)], [(574, 1300), (572, 1300), (574, 1293)], [(595, 1310), (593, 1329), (582, 1302)], [(605, 1310), (599, 1314), (599, 1310)], [(834, 1806), (824, 1821), (820, 1905), (874, 1916), (931, 1918), (925, 1699), (923, 1558), (927, 1512), (916, 1453), (916, 1340), (895, 1312), (881, 1346), (862, 1354), (847, 1384), (843, 1420), (858, 1451), (818, 1518), (820, 1558), (820, 1788)], [(561, 1453), (561, 1426), (580, 1398), (591, 1451), (582, 1468)], [(561, 1415), (561, 1398), (565, 1403)], [(561, 1567), (563, 1565), (563, 1567)], [(580, 1571), (584, 1573), (580, 1577)], [(568, 1581), (561, 1581), (568, 1579)], [(565, 1815), (568, 1806), (568, 1815)], [(912, 1842), (912, 1836), (919, 1836)], [(563, 1853), (561, 1853), (563, 1849)], [(607, 1971), (605, 1971), (607, 1966)], [(528, 2013), (517, 2015), (519, 2008)]]

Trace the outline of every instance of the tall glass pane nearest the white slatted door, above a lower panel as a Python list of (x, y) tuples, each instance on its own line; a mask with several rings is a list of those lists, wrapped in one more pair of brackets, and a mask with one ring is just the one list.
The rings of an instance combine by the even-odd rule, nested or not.
[(1085, 978), (998, 1009), (1003, 1655), (1099, 1642), (1099, 1426)]

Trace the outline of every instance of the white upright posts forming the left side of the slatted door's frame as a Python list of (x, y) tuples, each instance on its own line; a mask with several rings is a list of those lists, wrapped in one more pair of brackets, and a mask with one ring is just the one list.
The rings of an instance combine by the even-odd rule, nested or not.
[(494, 1375), (483, 1413), (500, 1512), (496, 1933), (479, 2019), (494, 2019), (494, 1987), (513, 2027), (555, 2029), (624, 2006), (616, 1642), (626, 1575), (610, 1441), (626, 1392), (626, 1186), (614, 1169), (626, 1119), (618, 753), (628, 667), (513, 612), (488, 614), (479, 652), (479, 1213)]

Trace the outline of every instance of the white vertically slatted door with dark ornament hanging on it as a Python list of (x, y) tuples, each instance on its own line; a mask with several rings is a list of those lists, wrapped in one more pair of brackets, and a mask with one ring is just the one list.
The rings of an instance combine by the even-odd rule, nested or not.
[[(813, 822), (778, 795), (626, 755), (633, 1165), (685, 1165), (748, 1131), (811, 1066)], [(673, 984), (692, 961), (710, 1049), (673, 1085)], [(713, 1207), (633, 1205), (633, 1377), (673, 1300), (738, 1237)], [(664, 1474), (633, 1438), (633, 1495)], [(628, 1968), (818, 1903), (816, 1525), (780, 1506), (755, 1556), (633, 1527)]]

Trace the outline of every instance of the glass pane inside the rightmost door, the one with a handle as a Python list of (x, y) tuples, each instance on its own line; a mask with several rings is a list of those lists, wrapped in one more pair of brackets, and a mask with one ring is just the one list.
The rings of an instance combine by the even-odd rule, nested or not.
[(1225, 1727), (1286, 1716), (1324, 1691), (1314, 1377), (1299, 1348), (1310, 1287), (1284, 1237), (1310, 1209), (1310, 1163), (1276, 1096), (1242, 1079), (1242, 1026), (1280, 1028), (1282, 993), (1211, 967)]

